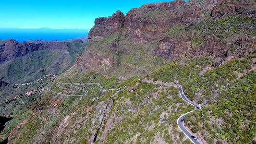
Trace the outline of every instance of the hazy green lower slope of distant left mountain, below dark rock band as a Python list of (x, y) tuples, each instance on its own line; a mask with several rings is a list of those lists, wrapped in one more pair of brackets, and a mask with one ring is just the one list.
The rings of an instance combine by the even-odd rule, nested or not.
[(12, 83), (32, 82), (46, 74), (62, 73), (75, 62), (85, 49), (84, 43), (68, 43), (68, 49), (34, 51), (0, 65), (0, 77)]

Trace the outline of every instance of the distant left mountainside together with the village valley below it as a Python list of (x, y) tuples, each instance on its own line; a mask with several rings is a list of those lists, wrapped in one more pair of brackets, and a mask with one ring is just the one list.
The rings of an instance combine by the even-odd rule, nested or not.
[[(22, 122), (22, 115), (29, 113), (40, 100), (41, 88), (69, 69), (76, 56), (84, 52), (86, 43), (81, 40), (19, 43), (7, 39), (0, 41), (0, 45), (0, 114), (13, 117), (12, 126), (16, 126)], [(2, 136), (1, 133), (0, 139)]]

